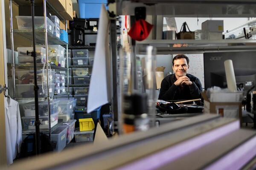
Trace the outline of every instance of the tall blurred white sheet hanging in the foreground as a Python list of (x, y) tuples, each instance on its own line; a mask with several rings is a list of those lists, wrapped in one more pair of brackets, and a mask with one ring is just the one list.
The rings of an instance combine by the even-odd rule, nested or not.
[(87, 113), (111, 102), (111, 58), (108, 46), (108, 21), (108, 11), (102, 3), (90, 90), (87, 99)]

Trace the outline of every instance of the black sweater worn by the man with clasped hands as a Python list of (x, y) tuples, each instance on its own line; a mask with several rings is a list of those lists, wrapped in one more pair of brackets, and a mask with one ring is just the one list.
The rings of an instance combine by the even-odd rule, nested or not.
[[(161, 82), (160, 94), (158, 99), (162, 100), (191, 100), (191, 99), (202, 99), (200, 94), (203, 91), (200, 80), (191, 75), (186, 74), (186, 77), (193, 82), (192, 85), (184, 85), (183, 90), (180, 86), (174, 84), (176, 81), (175, 74), (166, 76)], [(187, 103), (186, 103), (187, 104)]]

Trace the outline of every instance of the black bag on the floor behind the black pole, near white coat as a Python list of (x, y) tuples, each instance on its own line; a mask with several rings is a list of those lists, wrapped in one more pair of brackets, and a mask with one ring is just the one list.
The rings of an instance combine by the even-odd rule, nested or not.
[[(40, 133), (40, 153), (53, 151), (50, 138), (47, 134)], [(19, 158), (35, 155), (35, 133), (29, 134), (22, 142)]]

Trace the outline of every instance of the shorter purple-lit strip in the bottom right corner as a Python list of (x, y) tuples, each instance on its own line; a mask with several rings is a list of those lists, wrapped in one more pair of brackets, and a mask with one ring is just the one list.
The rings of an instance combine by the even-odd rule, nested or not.
[(205, 170), (240, 170), (256, 155), (256, 136), (232, 150)]

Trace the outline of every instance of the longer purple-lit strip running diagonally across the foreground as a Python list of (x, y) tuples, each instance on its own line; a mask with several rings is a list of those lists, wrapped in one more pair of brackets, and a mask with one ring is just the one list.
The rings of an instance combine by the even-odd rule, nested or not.
[(209, 132), (195, 136), (192, 139), (186, 140), (165, 150), (146, 156), (138, 161), (119, 167), (116, 170), (154, 170), (162, 167), (164, 164), (174, 161), (181, 156), (191, 153), (200, 147), (203, 147), (210, 142), (213, 142), (222, 136), (225, 136), (240, 128), (240, 121), (237, 120), (230, 124), (221, 126)]

